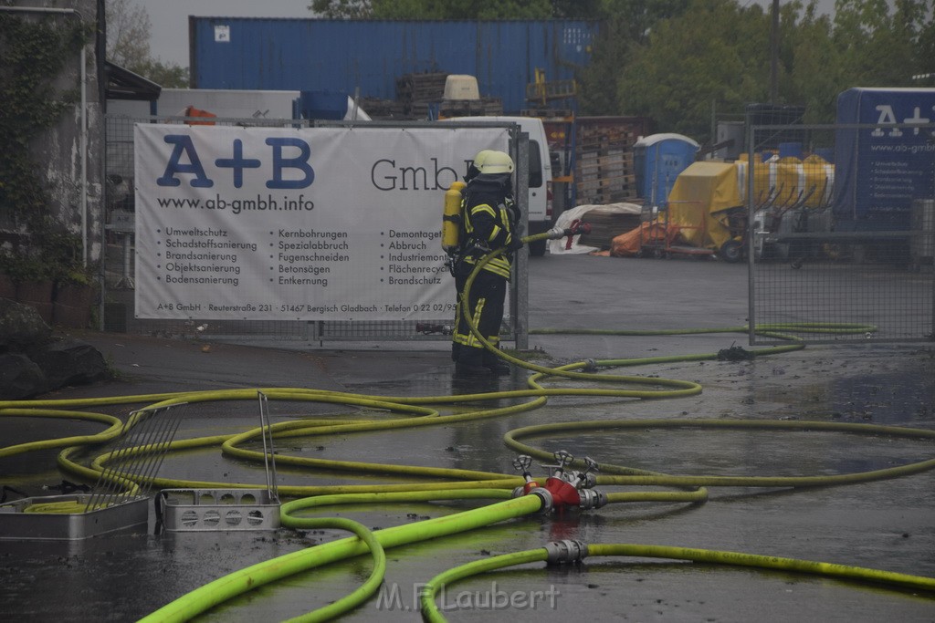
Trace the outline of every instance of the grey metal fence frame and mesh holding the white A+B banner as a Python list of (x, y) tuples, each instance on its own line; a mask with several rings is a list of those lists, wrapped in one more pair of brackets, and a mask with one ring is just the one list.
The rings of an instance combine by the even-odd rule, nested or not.
[[(282, 340), (325, 342), (342, 340), (366, 341), (431, 341), (448, 340), (453, 329), (453, 318), (424, 318), (418, 320), (380, 321), (292, 321), (292, 320), (215, 320), (215, 319), (141, 319), (135, 313), (135, 191), (134, 191), (134, 127), (137, 123), (201, 122), (201, 118), (128, 117), (107, 115), (105, 118), (107, 180), (105, 252), (103, 263), (104, 331), (139, 333), (165, 337), (237, 338), (239, 341)], [(243, 125), (266, 127), (309, 127), (309, 120), (226, 119), (212, 118), (217, 125)], [(330, 122), (334, 125), (335, 122)], [(384, 125), (391, 125), (384, 123)], [(410, 124), (411, 125), (411, 124)], [(514, 147), (518, 168), (522, 170), (528, 159), (528, 147), (522, 135), (514, 133)], [(518, 180), (525, 192), (525, 181)], [(518, 196), (524, 196), (518, 192)], [(441, 197), (439, 197), (439, 229), (441, 223)], [(517, 258), (521, 270), (511, 283), (508, 313), (504, 317), (501, 339), (514, 341), (516, 347), (525, 347), (526, 281), (525, 256)], [(452, 297), (454, 297), (452, 280)]]

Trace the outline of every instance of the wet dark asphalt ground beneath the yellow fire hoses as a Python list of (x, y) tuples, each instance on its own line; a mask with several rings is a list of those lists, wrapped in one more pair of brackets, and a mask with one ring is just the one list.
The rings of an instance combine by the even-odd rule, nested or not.
[[(688, 329), (746, 321), (746, 268), (724, 262), (546, 256), (530, 262), (530, 326)], [(144, 395), (202, 389), (314, 388), (384, 396), (429, 396), (525, 388), (525, 372), (463, 383), (443, 342), (417, 344), (229, 343), (81, 333), (120, 373), (113, 382), (57, 391), (50, 399)], [(747, 347), (741, 333), (660, 336), (539, 335), (535, 360), (629, 359)], [(293, 439), (283, 454), (336, 460), (459, 467), (514, 474), (505, 432), (534, 423), (592, 419), (738, 418), (872, 423), (935, 430), (935, 347), (931, 343), (807, 347), (749, 361), (683, 361), (618, 374), (700, 383), (698, 396), (667, 400), (554, 397), (531, 412), (413, 432), (366, 432)], [(556, 380), (551, 387), (565, 386)], [(590, 387), (590, 386), (584, 386)], [(190, 405), (177, 438), (256, 426), (252, 402)], [(469, 405), (465, 405), (465, 408)], [(125, 416), (129, 406), (99, 409)], [(274, 422), (359, 418), (354, 407), (273, 402)], [(372, 414), (365, 414), (368, 418)], [(4, 418), (2, 446), (90, 434), (99, 425)], [(849, 474), (935, 455), (930, 441), (830, 432), (654, 429), (554, 433), (536, 446), (666, 474)], [(69, 476), (57, 451), (0, 459), (0, 480), (30, 495)], [(535, 475), (544, 475), (536, 461)], [(262, 466), (223, 457), (217, 447), (173, 453), (160, 475), (220, 482), (264, 481)], [(281, 484), (386, 482), (281, 469)], [(417, 620), (414, 592), (431, 577), (474, 559), (557, 539), (731, 550), (935, 577), (935, 472), (840, 487), (712, 488), (701, 504), (611, 504), (561, 517), (517, 519), (388, 550), (381, 595), (345, 618)], [(612, 488), (611, 488), (612, 490)], [(387, 528), (451, 514), (476, 503), (409, 503), (321, 511)], [(154, 515), (154, 514), (153, 514)], [(80, 541), (0, 540), (0, 618), (127, 621), (157, 610), (225, 573), (344, 536), (338, 531), (137, 531)], [(299, 573), (213, 608), (199, 620), (285, 620), (350, 592), (369, 573), (367, 557)], [(505, 604), (513, 597), (518, 607)], [(535, 607), (530, 607), (535, 602)], [(447, 588), (452, 620), (932, 621), (935, 594), (827, 577), (660, 559), (533, 563)], [(458, 605), (470, 606), (458, 608)]]

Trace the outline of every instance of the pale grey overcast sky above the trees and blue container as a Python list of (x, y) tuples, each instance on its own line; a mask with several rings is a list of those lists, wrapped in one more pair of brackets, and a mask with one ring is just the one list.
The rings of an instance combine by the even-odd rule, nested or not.
[[(785, 0), (783, 0), (785, 1)], [(771, 0), (739, 0), (769, 7)], [(146, 8), (152, 24), (150, 52), (163, 63), (188, 66), (188, 16), (310, 18), (311, 0), (136, 0)], [(819, 10), (830, 12), (834, 0), (818, 0)]]

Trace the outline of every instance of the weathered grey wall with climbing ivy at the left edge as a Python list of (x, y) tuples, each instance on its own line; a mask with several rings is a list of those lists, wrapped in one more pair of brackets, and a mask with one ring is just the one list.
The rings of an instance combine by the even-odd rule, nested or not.
[(68, 267), (50, 264), (71, 263), (73, 269), (102, 257), (99, 5), (98, 0), (0, 0), (0, 269), (4, 258), (28, 260), (32, 270), (38, 270), (38, 262), (45, 264), (43, 270), (61, 272)]

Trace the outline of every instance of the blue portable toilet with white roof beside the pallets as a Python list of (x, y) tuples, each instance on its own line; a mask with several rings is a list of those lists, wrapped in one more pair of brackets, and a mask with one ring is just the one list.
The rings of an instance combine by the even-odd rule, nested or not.
[(669, 191), (688, 165), (695, 162), (698, 142), (688, 136), (642, 136), (633, 146), (637, 190), (647, 205), (666, 205)]

